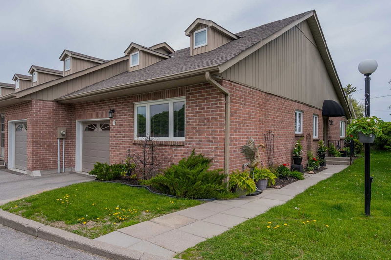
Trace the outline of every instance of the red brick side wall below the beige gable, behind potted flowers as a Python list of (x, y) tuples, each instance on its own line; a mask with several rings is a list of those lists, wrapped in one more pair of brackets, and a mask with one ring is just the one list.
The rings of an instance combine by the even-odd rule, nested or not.
[[(295, 135), (295, 110), (303, 111), (303, 165), (307, 163), (307, 138), (310, 134), (311, 149), (315, 155), (318, 140), (323, 140), (323, 119), (320, 109), (307, 106), (292, 100), (264, 93), (228, 80), (222, 85), (231, 93), (231, 134), (230, 134), (230, 169), (241, 169), (247, 162), (240, 152), (249, 137), (257, 143), (265, 144), (264, 134), (273, 131), (274, 163), (292, 163), (293, 146), (301, 136)], [(312, 116), (318, 115), (318, 139), (312, 138)], [(340, 118), (344, 120), (344, 118)], [(336, 121), (333, 118), (334, 121)], [(335, 124), (335, 123), (334, 123)], [(339, 138), (338, 131), (331, 129), (330, 135)], [(261, 152), (263, 165), (268, 165), (265, 152)]]

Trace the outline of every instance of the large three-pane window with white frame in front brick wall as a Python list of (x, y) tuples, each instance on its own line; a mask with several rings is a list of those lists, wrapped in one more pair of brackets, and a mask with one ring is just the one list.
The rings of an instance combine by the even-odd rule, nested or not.
[(134, 140), (185, 140), (185, 98), (134, 104)]

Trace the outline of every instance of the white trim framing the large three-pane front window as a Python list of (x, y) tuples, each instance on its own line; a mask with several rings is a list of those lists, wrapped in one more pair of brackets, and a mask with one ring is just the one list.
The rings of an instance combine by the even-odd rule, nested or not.
[(153, 101), (145, 101), (145, 102), (136, 102), (134, 103), (134, 140), (145, 140), (146, 137), (138, 137), (137, 136), (137, 107), (145, 106), (145, 134), (148, 137), (150, 135), (150, 106), (151, 105), (158, 105), (158, 104), (165, 104), (169, 103), (169, 118), (168, 118), (168, 137), (151, 137), (153, 140), (156, 141), (185, 141), (186, 137), (186, 110), (185, 110), (185, 136), (183, 137), (174, 137), (174, 105), (175, 102), (185, 102), (186, 107), (186, 98), (185, 97), (178, 97), (178, 98), (171, 98), (171, 99), (163, 99), (163, 100), (153, 100)]

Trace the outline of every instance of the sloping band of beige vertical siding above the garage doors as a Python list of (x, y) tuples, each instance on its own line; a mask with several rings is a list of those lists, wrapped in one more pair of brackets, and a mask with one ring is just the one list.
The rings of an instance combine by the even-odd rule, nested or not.
[(54, 100), (58, 97), (72, 93), (102, 80), (109, 79), (115, 75), (126, 71), (128, 71), (128, 60), (115, 63), (100, 70), (77, 77), (75, 79), (67, 80), (57, 85), (45, 88), (41, 91), (37, 91), (35, 93), (27, 95), (26, 98), (38, 100)]

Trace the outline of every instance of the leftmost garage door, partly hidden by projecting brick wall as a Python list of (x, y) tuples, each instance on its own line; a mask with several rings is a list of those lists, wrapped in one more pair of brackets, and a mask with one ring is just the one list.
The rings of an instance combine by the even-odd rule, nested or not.
[(15, 168), (27, 170), (27, 123), (15, 125)]

